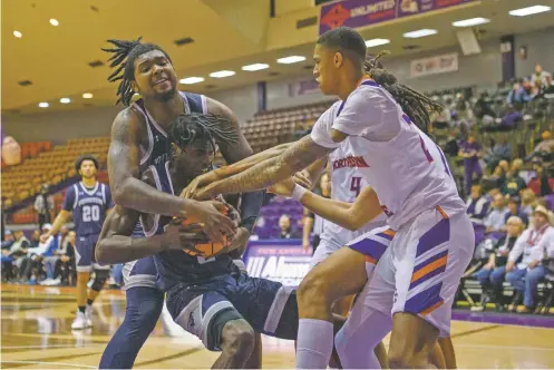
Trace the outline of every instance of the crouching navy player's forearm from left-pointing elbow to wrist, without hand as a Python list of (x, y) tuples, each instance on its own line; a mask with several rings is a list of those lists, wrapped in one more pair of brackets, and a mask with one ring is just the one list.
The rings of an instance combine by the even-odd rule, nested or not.
[(137, 238), (113, 235), (98, 241), (95, 256), (101, 264), (126, 263), (154, 255), (164, 249), (159, 235)]

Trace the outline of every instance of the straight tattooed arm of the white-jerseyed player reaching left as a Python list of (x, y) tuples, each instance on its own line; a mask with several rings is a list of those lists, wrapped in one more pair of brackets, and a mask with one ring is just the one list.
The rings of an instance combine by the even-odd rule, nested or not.
[(266, 188), (327, 156), (332, 149), (315, 144), (310, 136), (293, 143), (283, 154), (266, 159), (250, 169), (198, 189), (195, 198), (205, 199), (217, 194), (254, 192)]

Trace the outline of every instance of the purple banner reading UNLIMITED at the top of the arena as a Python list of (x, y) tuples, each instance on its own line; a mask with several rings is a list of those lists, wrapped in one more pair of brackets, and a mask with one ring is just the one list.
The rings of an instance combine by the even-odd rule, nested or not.
[(319, 33), (337, 27), (362, 28), (477, 0), (342, 0), (321, 7)]

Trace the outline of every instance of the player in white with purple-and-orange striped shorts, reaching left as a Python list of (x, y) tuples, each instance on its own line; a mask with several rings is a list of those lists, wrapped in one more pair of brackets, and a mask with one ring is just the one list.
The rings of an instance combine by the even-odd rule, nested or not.
[[(396, 236), (368, 282), (365, 305), (339, 333), (337, 349), (344, 368), (375, 368), (379, 364), (372, 349), (392, 331), (391, 367), (429, 367), (438, 337), (449, 333), (451, 303), (474, 246), (472, 223), (444, 155), (425, 133), (437, 106), (398, 84), (378, 68), (378, 60), (368, 65), (367, 74), (366, 45), (352, 29), (323, 33), (313, 59), (321, 91), (342, 101), (282, 155), (200, 188), (195, 198), (266, 188), (327, 156), (349, 136), (365, 139), (359, 163), (372, 186), (366, 213), (368, 218), (385, 213)], [(305, 193), (295, 185), (292, 197), (301, 201)], [(298, 368), (327, 366), (333, 344), (330, 308), (344, 292), (359, 289), (352, 269), (363, 266), (362, 253), (371, 245), (353, 243), (337, 251), (302, 281)]]

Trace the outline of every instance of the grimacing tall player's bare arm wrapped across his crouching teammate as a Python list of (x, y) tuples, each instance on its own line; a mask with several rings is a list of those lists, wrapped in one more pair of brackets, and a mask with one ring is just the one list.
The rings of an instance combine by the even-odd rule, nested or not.
[(222, 241), (223, 234), (234, 234), (233, 222), (216, 207), (161, 192), (137, 178), (139, 125), (138, 117), (129, 108), (119, 113), (111, 126), (108, 174), (115, 203), (144, 213), (193, 217), (204, 223), (206, 234), (214, 242)]

